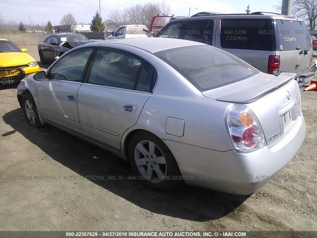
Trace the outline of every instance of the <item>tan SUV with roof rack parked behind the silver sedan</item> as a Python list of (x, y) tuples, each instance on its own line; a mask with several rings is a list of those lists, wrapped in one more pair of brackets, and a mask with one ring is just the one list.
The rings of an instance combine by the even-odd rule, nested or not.
[(209, 44), (227, 51), (265, 73), (296, 73), (299, 85), (315, 75), (309, 71), (313, 49), (305, 23), (278, 14), (211, 14), (175, 19), (156, 37)]

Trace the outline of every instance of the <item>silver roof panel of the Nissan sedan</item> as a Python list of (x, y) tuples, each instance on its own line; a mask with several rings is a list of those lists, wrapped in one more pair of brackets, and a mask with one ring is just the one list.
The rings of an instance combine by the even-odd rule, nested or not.
[(128, 39), (99, 41), (99, 42), (85, 44), (84, 46), (106, 47), (113, 44), (132, 46), (132, 47), (139, 48), (141, 50), (144, 50), (150, 53), (155, 53), (158, 51), (164, 51), (164, 50), (169, 50), (172, 48), (179, 48), (179, 47), (185, 47), (185, 46), (205, 45), (203, 43), (199, 43), (195, 41), (187, 41), (187, 40), (179, 40), (179, 39), (171, 39), (171, 38), (146, 37), (146, 38), (130, 38), (130, 39), (128, 38)]

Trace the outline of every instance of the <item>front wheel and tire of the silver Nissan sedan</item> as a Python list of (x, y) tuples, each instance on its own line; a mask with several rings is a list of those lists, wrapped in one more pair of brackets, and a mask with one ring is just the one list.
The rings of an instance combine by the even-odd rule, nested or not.
[(25, 118), (27, 119), (30, 125), (35, 127), (42, 126), (36, 104), (30, 93), (25, 93), (22, 95), (22, 108)]

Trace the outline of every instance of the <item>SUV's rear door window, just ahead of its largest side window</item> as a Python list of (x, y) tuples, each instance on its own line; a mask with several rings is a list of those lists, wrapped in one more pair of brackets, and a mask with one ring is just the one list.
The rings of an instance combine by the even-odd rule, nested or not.
[(189, 20), (181, 30), (181, 39), (212, 45), (212, 20)]

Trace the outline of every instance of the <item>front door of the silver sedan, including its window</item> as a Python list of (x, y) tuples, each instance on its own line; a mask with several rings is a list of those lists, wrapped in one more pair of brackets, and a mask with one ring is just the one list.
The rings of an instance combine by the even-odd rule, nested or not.
[(58, 60), (48, 73), (48, 79), (41, 81), (38, 87), (41, 115), (76, 133), (82, 132), (77, 112), (77, 92), (93, 50), (78, 49)]

